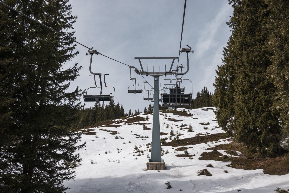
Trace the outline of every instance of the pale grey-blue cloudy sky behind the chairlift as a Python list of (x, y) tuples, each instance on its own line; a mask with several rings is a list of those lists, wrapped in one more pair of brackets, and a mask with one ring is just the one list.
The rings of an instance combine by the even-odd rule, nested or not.
[[(184, 1), (181, 0), (146, 0), (146, 1), (99, 1), (99, 0), (71, 0), (72, 14), (78, 19), (73, 25), (77, 41), (93, 47), (101, 54), (119, 60), (125, 64), (140, 69), (135, 57), (177, 57), (181, 38), (181, 26), (184, 12)], [(185, 93), (192, 92), (195, 98), (197, 91), (206, 86), (214, 92), (212, 83), (216, 76), (217, 65), (221, 65), (223, 47), (231, 35), (226, 22), (229, 21), (233, 9), (227, 0), (189, 0), (186, 4), (184, 31), (181, 47), (188, 44), (194, 50), (189, 53), (189, 72), (183, 76), (193, 82), (185, 84)], [(89, 76), (90, 55), (86, 56), (87, 48), (77, 45), (79, 55), (65, 66), (79, 63), (83, 68), (71, 88), (79, 86), (87, 89), (94, 86), (93, 76)], [(164, 71), (164, 64), (170, 65), (171, 60), (143, 60), (142, 64), (153, 66)], [(180, 54), (179, 63), (186, 67), (186, 53)], [(173, 69), (177, 66), (177, 60)], [(186, 68), (184, 69), (186, 70)], [(126, 112), (131, 109), (143, 111), (150, 101), (144, 101), (143, 93), (129, 94), (128, 86), (132, 85), (127, 66), (94, 55), (92, 71), (110, 74), (106, 77), (108, 86), (115, 87), (115, 103), (123, 105)], [(140, 78), (140, 85), (144, 79), (132, 72), (132, 78)], [(153, 86), (153, 77), (144, 76)], [(160, 77), (164, 78), (175, 76)], [(164, 82), (163, 82), (164, 83)], [(99, 79), (97, 79), (99, 86)], [(148, 87), (147, 87), (148, 86)], [(150, 86), (146, 84), (146, 89)], [(88, 94), (99, 94), (99, 89), (89, 89)], [(103, 94), (112, 93), (113, 89), (103, 89)], [(81, 98), (83, 101), (83, 99)], [(108, 103), (108, 102), (107, 102)], [(151, 103), (153, 104), (153, 103)], [(86, 107), (93, 106), (94, 102), (87, 102)]]

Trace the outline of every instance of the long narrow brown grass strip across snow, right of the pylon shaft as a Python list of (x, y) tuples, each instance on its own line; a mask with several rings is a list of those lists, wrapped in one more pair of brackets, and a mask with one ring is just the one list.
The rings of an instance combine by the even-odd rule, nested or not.
[(195, 136), (185, 139), (173, 139), (170, 142), (162, 144), (163, 146), (189, 146), (205, 143), (206, 141), (218, 141), (219, 139), (226, 139), (228, 135), (226, 133), (215, 133), (211, 135)]

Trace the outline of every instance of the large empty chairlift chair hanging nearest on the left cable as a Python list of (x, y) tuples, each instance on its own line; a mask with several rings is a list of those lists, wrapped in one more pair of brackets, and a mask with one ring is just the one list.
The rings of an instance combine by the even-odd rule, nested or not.
[[(92, 62), (92, 55), (93, 54), (98, 54), (97, 51), (95, 50), (88, 50), (88, 53), (86, 53), (86, 55), (90, 54), (90, 64), (89, 64), (89, 71), (90, 73), (92, 73), (91, 75), (94, 76), (94, 84), (95, 84), (95, 87), (89, 87), (88, 89), (90, 88), (100, 88), (100, 93), (99, 95), (87, 95), (87, 91), (88, 89), (86, 90), (86, 94), (83, 96), (83, 99), (84, 99), (84, 102), (100, 102), (100, 101), (111, 101), (113, 98), (114, 98), (114, 94), (112, 95), (112, 93), (110, 94), (102, 94), (102, 88), (105, 88), (105, 87), (108, 87), (106, 86), (106, 83), (105, 83), (105, 75), (109, 75), (109, 74), (104, 74), (103, 77), (104, 77), (104, 87), (102, 86), (102, 81), (101, 81), (101, 73), (96, 73), (96, 72), (92, 72), (91, 71), (91, 62)], [(100, 87), (97, 86), (96, 84), (96, 80), (95, 80), (95, 75), (99, 75), (99, 81), (100, 81)], [(111, 87), (114, 89), (115, 91), (115, 88), (114, 87)], [(114, 92), (113, 92), (114, 93)]]

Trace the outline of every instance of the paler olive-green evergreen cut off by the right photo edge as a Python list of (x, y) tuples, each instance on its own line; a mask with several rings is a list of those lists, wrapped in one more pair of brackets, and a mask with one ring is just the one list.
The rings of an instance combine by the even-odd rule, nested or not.
[(266, 30), (270, 33), (267, 39), (271, 52), (271, 66), (268, 71), (274, 86), (277, 88), (274, 108), (280, 111), (280, 124), (284, 138), (289, 136), (289, 3), (288, 1), (266, 0), (270, 15)]

